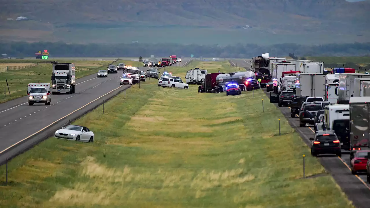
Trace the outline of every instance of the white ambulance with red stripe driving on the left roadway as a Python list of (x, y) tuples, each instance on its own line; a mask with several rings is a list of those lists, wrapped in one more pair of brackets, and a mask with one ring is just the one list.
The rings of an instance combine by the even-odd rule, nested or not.
[(50, 105), (50, 83), (30, 83), (27, 88), (28, 105), (45, 103)]

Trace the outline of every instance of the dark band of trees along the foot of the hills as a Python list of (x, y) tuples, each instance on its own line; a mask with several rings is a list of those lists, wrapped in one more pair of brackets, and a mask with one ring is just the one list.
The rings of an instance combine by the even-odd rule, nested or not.
[(236, 44), (228, 46), (197, 44), (66, 44), (66, 43), (0, 43), (0, 53), (11, 57), (33, 57), (37, 51), (48, 50), (49, 57), (167, 57), (173, 54), (189, 57), (250, 58), (270, 53), (270, 56), (369, 56), (369, 43), (325, 44), (306, 46), (299, 44)]

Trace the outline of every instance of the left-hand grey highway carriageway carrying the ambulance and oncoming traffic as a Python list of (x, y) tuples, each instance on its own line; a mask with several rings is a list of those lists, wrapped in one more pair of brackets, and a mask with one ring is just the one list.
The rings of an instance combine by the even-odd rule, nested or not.
[[(189, 59), (184, 58), (176, 65), (182, 66), (186, 61)], [(147, 69), (148, 67), (140, 67), (142, 71)], [(91, 74), (77, 79), (74, 94), (51, 95), (50, 105), (30, 106), (27, 103), (27, 96), (0, 104), (0, 160), (4, 160), (1, 156), (8, 150), (20, 145), (17, 143), (46, 130), (60, 119), (83, 111), (87, 105), (95, 104), (94, 101), (100, 98), (108, 99), (110, 94), (128, 88), (128, 85), (120, 85), (121, 76), (122, 71), (119, 71), (118, 74), (108, 74), (108, 78), (97, 78), (96, 74)]]

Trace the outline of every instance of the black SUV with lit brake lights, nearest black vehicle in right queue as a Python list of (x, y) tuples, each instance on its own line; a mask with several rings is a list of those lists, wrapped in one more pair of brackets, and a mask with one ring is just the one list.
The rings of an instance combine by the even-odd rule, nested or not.
[(334, 131), (317, 131), (312, 141), (311, 155), (317, 156), (319, 154), (336, 154), (342, 157), (340, 150), (340, 141)]

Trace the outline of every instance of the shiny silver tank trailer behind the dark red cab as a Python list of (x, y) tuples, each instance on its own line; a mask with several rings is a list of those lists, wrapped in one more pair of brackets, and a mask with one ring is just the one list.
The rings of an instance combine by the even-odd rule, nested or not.
[(216, 77), (217, 85), (227, 85), (230, 83), (245, 84), (248, 78), (256, 78), (256, 74), (253, 71), (238, 71), (228, 74), (219, 74)]

